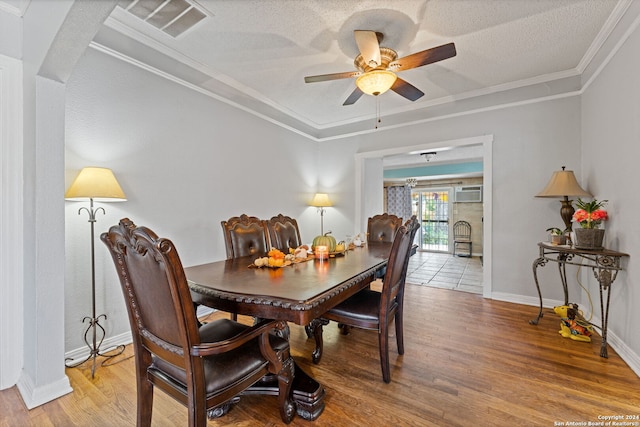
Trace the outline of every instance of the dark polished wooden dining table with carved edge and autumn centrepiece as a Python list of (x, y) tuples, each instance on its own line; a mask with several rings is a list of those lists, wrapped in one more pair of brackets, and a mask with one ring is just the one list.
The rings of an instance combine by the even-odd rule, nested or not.
[[(255, 254), (184, 270), (196, 304), (308, 327), (329, 309), (368, 287), (376, 272), (386, 266), (391, 245), (369, 242), (327, 259), (309, 254), (306, 260), (279, 268), (255, 267), (255, 259), (264, 255)], [(295, 364), (292, 389), (297, 414), (306, 420), (317, 419), (324, 410), (324, 387)], [(277, 381), (265, 378), (246, 394), (277, 393)]]

